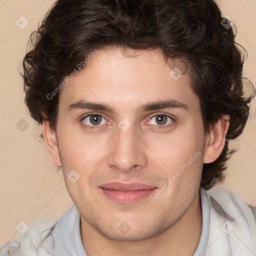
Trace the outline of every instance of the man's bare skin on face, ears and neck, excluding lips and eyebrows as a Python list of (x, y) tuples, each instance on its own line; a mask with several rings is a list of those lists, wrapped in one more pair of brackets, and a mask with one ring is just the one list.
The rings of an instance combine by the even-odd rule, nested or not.
[[(174, 80), (169, 75), (174, 66), (184, 71), (181, 62), (166, 63), (160, 50), (127, 49), (123, 54), (118, 47), (101, 49), (60, 91), (56, 131), (43, 122), (47, 148), (62, 167), (68, 193), (81, 213), (80, 234), (88, 256), (193, 255), (197, 247), (202, 164), (221, 153), (228, 122), (220, 119), (204, 134), (189, 68)], [(82, 99), (108, 104), (115, 113), (69, 110)], [(187, 109), (136, 111), (141, 104), (166, 99), (178, 100)], [(93, 126), (89, 117), (82, 119), (89, 113), (103, 117), (94, 129), (88, 128)], [(156, 114), (173, 119), (159, 124)], [(123, 118), (131, 124), (127, 131), (118, 126)], [(160, 188), (197, 151), (200, 156), (154, 202), (145, 198), (122, 204), (98, 188), (110, 181)], [(74, 183), (67, 178), (72, 169), (80, 175)], [(125, 234), (118, 228), (123, 221), (130, 226)]]

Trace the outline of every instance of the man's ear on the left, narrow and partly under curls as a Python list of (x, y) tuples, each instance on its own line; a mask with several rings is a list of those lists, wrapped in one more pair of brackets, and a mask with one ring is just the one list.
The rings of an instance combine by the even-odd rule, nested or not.
[(42, 122), (42, 134), (52, 161), (55, 165), (60, 167), (61, 162), (57, 145), (56, 133), (50, 127), (48, 120), (43, 120)]

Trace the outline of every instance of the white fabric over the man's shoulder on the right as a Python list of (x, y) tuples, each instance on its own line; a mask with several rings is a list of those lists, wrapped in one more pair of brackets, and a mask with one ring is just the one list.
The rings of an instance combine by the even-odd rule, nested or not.
[(206, 195), (210, 223), (205, 255), (245, 256), (256, 251), (255, 207), (223, 184), (207, 190)]

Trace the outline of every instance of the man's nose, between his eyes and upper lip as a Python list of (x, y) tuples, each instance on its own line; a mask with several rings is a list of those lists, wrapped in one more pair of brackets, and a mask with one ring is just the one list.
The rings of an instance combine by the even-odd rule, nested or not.
[(117, 133), (111, 139), (107, 163), (121, 172), (138, 170), (147, 164), (146, 150), (142, 135), (135, 134), (134, 125), (123, 131), (117, 127)]

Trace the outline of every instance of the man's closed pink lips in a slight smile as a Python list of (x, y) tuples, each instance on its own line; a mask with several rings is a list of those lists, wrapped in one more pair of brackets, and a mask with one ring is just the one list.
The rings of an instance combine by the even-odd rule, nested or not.
[(157, 187), (142, 183), (109, 182), (100, 185), (99, 190), (105, 198), (118, 203), (134, 203), (150, 196)]

